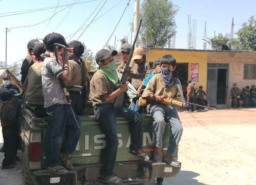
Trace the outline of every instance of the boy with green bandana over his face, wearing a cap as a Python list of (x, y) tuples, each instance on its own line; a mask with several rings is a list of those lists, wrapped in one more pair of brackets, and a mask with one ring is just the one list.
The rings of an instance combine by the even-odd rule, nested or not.
[[(118, 138), (116, 130), (116, 117), (124, 117), (131, 123), (131, 152), (142, 155), (142, 116), (130, 109), (122, 107), (120, 102), (114, 99), (127, 91), (126, 84), (120, 84), (118, 88), (118, 77), (116, 73), (113, 56), (117, 51), (110, 52), (101, 49), (97, 52), (95, 60), (100, 69), (97, 70), (90, 82), (91, 99), (93, 102), (95, 118), (100, 122), (105, 134), (106, 147), (103, 154), (103, 166), (100, 170), (100, 181), (108, 184), (120, 184), (122, 179), (114, 175), (114, 166), (118, 149)], [(118, 98), (117, 98), (118, 99)], [(145, 156), (145, 154), (144, 154)]]

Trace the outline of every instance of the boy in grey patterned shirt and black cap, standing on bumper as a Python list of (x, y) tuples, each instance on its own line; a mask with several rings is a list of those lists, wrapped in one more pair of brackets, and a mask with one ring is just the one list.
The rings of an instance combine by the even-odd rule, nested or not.
[[(72, 153), (75, 151), (77, 142), (80, 137), (80, 128), (74, 124), (74, 118), (71, 113), (71, 107), (63, 93), (58, 78), (65, 82), (70, 81), (69, 64), (65, 63), (62, 69), (61, 58), (65, 57), (68, 61), (68, 52), (63, 56), (63, 47), (56, 47), (58, 49), (58, 56), (54, 54), (54, 43), (67, 46), (65, 38), (57, 33), (51, 33), (45, 36), (44, 43), (46, 45), (45, 60), (42, 64), (42, 94), (44, 95), (48, 127), (47, 138), (49, 140), (47, 152), (47, 171), (55, 174), (66, 174), (67, 169), (73, 169), (71, 162)], [(60, 55), (60, 56), (59, 56)], [(57, 63), (56, 57), (60, 58), (60, 64)], [(78, 124), (81, 125), (80, 119), (76, 116)], [(62, 151), (60, 156), (61, 138), (65, 134), (65, 140), (62, 144)], [(58, 164), (59, 157), (65, 167)]]

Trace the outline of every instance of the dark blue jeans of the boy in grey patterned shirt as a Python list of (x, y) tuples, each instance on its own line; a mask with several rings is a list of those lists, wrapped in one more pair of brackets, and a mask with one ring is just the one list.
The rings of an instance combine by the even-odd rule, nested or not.
[(56, 166), (59, 161), (61, 139), (65, 135), (62, 143), (62, 153), (72, 154), (80, 137), (81, 121), (76, 116), (80, 128), (77, 128), (74, 117), (71, 113), (70, 105), (54, 104), (46, 109), (48, 117), (47, 138), (47, 167)]

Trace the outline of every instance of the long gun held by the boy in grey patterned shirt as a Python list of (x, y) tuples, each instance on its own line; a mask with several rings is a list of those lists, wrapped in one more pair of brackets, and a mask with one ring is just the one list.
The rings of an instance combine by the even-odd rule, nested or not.
[[(55, 43), (55, 44), (53, 44), (53, 45), (54, 45), (54, 54), (55, 54), (55, 58), (56, 58), (56, 61), (57, 61), (58, 64), (59, 64), (59, 60), (58, 60), (57, 46), (63, 47), (63, 49), (64, 49), (64, 50), (63, 50), (63, 56), (62, 56), (62, 61), (63, 61), (62, 68), (63, 68), (63, 70), (64, 70), (64, 65), (65, 65), (65, 60), (66, 60), (66, 51), (67, 51), (67, 47), (64, 46), (64, 45), (61, 45), (61, 44), (57, 44), (57, 43)], [(71, 106), (71, 97), (70, 97), (70, 95), (69, 95), (69, 91), (68, 91), (68, 88), (67, 88), (67, 84), (66, 84), (66, 82), (64, 82), (60, 77), (59, 77), (58, 79), (59, 79), (60, 86), (61, 86), (61, 88), (62, 88), (62, 90), (63, 90), (63, 93), (65, 94), (66, 99), (67, 99), (67, 101), (68, 101), (68, 104), (69, 104), (69, 106), (70, 106), (71, 113), (72, 113), (72, 115), (73, 115), (73, 117), (74, 117), (74, 120), (75, 120), (75, 122), (76, 122), (76, 126), (77, 126), (77, 128), (80, 128), (79, 123), (78, 123), (78, 121), (77, 121), (77, 119), (76, 119), (76, 114), (75, 114), (75, 112), (74, 112), (74, 110), (73, 110), (73, 108), (72, 108), (72, 106)]]

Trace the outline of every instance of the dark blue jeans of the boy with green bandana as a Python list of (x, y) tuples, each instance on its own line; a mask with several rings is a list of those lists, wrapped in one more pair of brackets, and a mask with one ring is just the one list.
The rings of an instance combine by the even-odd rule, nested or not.
[(100, 122), (105, 134), (106, 147), (103, 154), (103, 166), (100, 175), (109, 177), (113, 174), (116, 154), (118, 148), (118, 138), (116, 130), (116, 117), (123, 117), (130, 121), (131, 149), (141, 149), (142, 144), (142, 117), (130, 109), (119, 107), (114, 108), (113, 103), (98, 104), (94, 107), (95, 118)]

